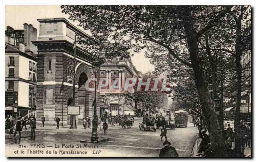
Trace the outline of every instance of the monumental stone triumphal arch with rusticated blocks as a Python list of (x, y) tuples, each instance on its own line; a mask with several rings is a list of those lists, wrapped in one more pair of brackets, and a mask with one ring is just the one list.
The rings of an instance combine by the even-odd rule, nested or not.
[[(94, 77), (92, 62), (95, 60), (82, 48), (76, 47), (76, 64), (74, 65), (75, 34), (89, 37), (70, 24), (65, 18), (38, 19), (40, 34), (38, 41), (33, 42), (38, 48), (36, 118), (43, 115), (46, 124), (55, 124), (59, 117), (63, 125), (70, 124), (68, 106), (80, 106), (77, 123), (83, 118), (93, 116), (92, 102), (94, 91), (85, 89), (88, 79)], [(73, 69), (75, 76), (73, 80)], [(97, 74), (99, 79), (99, 74)], [(73, 81), (75, 82), (75, 99), (73, 99)], [(90, 82), (90, 87), (94, 87)], [(97, 91), (97, 102), (100, 102)], [(100, 113), (99, 107), (97, 114)]]

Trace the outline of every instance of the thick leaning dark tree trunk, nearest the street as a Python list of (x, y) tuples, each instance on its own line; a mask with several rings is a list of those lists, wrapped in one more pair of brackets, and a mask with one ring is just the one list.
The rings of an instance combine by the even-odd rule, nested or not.
[[(190, 14), (189, 11), (187, 11)], [(188, 15), (189, 17), (189, 15)], [(206, 118), (207, 127), (209, 131), (212, 155), (213, 157), (226, 157), (226, 150), (224, 147), (224, 142), (222, 139), (220, 125), (217, 116), (214, 112), (212, 105), (212, 98), (208, 89), (208, 85), (205, 79), (205, 74), (203, 71), (200, 55), (198, 52), (198, 41), (196, 31), (193, 28), (191, 19), (186, 18), (184, 21), (187, 22), (184, 25), (185, 32), (187, 35), (188, 50), (190, 54), (191, 64), (194, 70), (195, 83), (197, 92), (202, 103), (203, 113)]]

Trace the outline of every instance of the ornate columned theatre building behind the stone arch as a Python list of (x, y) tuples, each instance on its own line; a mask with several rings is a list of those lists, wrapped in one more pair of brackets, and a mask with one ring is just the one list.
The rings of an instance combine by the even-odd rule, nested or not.
[[(127, 78), (142, 77), (132, 64), (129, 54), (127, 58), (107, 60), (100, 67), (100, 78), (109, 81), (108, 86), (100, 90), (100, 116), (107, 115), (134, 115), (135, 103), (132, 99), (133, 87), (124, 90)], [(115, 82), (116, 81), (116, 82)], [(110, 89), (115, 84), (118, 88)], [(138, 106), (141, 109), (141, 106)]]

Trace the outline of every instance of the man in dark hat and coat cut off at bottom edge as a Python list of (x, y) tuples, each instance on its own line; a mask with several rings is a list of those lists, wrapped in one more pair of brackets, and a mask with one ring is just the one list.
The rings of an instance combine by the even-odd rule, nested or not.
[(171, 146), (171, 143), (168, 141), (164, 141), (164, 147), (160, 150), (159, 157), (161, 158), (169, 158), (169, 157), (179, 157), (176, 149)]

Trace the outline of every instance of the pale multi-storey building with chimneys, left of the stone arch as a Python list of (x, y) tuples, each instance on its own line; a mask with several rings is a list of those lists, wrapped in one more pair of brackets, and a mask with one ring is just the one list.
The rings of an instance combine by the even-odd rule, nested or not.
[(5, 116), (26, 116), (36, 110), (37, 49), (31, 41), (36, 41), (36, 28), (31, 24), (25, 23), (22, 30), (14, 30), (7, 26), (5, 31)]

